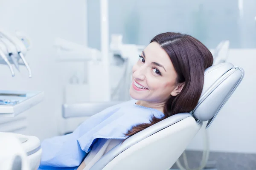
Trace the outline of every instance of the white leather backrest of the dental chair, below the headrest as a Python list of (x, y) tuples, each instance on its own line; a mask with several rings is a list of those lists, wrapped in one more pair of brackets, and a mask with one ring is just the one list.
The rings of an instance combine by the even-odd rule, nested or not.
[[(118, 147), (122, 147), (122, 144), (117, 145), (90, 170), (168, 170), (198, 133), (201, 125), (189, 116), (137, 142), (122, 153), (113, 155)], [(132, 137), (127, 143), (133, 142)], [(102, 161), (108, 157), (113, 159), (109, 162)]]

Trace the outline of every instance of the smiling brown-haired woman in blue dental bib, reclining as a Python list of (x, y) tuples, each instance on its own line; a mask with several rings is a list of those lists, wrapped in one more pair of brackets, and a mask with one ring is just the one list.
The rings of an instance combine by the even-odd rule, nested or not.
[(212, 62), (210, 51), (194, 37), (173, 32), (155, 36), (133, 67), (134, 100), (92, 116), (71, 134), (45, 140), (39, 169), (87, 169), (129, 136), (192, 111)]

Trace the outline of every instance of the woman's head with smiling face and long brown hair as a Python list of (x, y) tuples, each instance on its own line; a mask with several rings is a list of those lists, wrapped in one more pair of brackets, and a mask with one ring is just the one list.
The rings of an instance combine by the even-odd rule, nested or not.
[(130, 95), (137, 105), (164, 113), (150, 123), (128, 130), (131, 136), (176, 113), (192, 111), (204, 84), (204, 70), (212, 65), (211, 52), (187, 34), (166, 32), (155, 36), (133, 67)]

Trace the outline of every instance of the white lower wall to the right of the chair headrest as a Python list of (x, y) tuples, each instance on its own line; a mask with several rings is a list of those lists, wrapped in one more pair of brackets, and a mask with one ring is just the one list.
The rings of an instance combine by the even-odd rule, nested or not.
[[(210, 149), (221, 152), (256, 153), (256, 49), (231, 49), (227, 62), (244, 69), (244, 79), (209, 127)], [(203, 133), (188, 149), (202, 150)]]

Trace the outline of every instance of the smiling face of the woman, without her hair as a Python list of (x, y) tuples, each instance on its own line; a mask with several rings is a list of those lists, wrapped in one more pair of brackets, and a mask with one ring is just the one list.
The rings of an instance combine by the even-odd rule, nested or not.
[(130, 95), (133, 99), (152, 103), (165, 102), (183, 88), (177, 83), (177, 73), (166, 51), (151, 42), (134, 65)]

